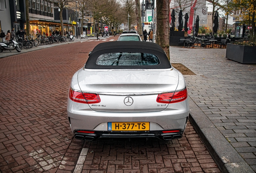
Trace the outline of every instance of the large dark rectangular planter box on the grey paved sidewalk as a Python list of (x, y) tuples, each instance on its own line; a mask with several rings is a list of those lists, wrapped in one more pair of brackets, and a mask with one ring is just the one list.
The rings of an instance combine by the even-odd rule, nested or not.
[(226, 58), (242, 64), (256, 64), (256, 46), (227, 43)]

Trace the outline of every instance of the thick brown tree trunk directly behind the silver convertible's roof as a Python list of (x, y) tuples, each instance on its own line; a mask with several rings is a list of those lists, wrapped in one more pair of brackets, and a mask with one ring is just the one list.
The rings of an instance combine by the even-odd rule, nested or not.
[(170, 60), (169, 50), (169, 13), (170, 3), (169, 0), (157, 0), (157, 36), (156, 43), (159, 44), (165, 51), (168, 59)]

